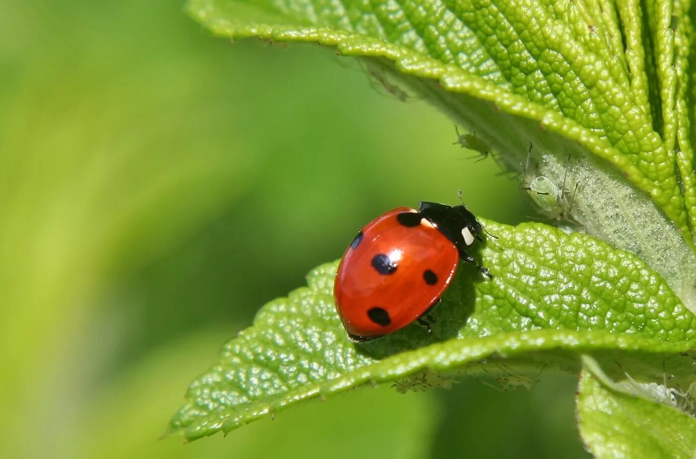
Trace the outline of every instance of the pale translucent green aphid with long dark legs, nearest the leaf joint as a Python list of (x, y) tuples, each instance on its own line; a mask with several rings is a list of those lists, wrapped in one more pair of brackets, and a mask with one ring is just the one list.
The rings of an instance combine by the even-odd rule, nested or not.
[(566, 179), (568, 178), (568, 169), (570, 167), (570, 156), (566, 165), (565, 174), (563, 175), (563, 183), (559, 188), (551, 179), (541, 175), (535, 177), (526, 185), (527, 170), (529, 167), (530, 156), (532, 154), (532, 144), (529, 144), (529, 153), (527, 154), (527, 163), (524, 168), (524, 179), (520, 184), (520, 188), (528, 191), (532, 200), (537, 204), (541, 213), (549, 218), (560, 220), (561, 218), (568, 219), (573, 210), (573, 202), (575, 193), (578, 191), (580, 182), (576, 182), (573, 194), (568, 196), (565, 192)]

